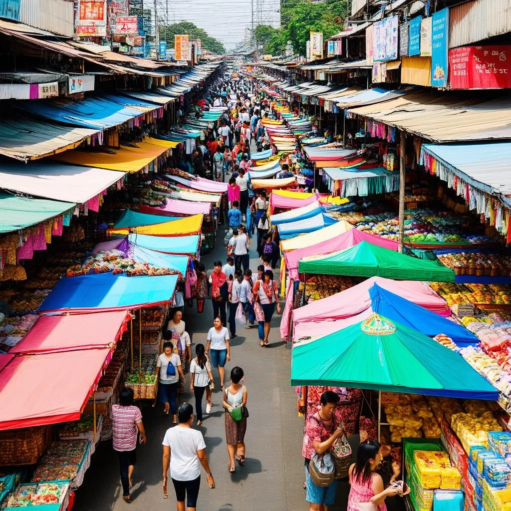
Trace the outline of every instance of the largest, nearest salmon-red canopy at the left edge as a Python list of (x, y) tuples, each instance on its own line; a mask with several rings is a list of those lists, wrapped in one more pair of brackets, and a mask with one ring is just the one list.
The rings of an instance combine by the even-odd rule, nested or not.
[(110, 349), (17, 355), (0, 372), (0, 430), (77, 421)]

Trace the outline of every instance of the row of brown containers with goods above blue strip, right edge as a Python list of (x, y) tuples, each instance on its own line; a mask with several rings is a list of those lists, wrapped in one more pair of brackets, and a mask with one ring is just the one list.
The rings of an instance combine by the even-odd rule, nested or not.
[(456, 275), (509, 275), (511, 273), (511, 258), (480, 252), (459, 252), (439, 254), (438, 259)]

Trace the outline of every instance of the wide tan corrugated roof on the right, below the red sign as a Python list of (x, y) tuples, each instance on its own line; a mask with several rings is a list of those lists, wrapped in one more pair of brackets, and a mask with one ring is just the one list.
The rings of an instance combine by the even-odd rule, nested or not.
[(413, 92), (376, 105), (350, 108), (433, 142), (511, 139), (511, 98), (489, 101)]

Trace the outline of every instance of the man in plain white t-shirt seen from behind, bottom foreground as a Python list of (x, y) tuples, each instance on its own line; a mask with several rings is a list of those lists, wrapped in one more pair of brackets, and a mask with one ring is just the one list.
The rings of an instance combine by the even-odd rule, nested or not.
[(200, 466), (206, 471), (207, 484), (215, 487), (215, 480), (207, 462), (206, 444), (200, 431), (192, 429), (193, 407), (183, 403), (177, 410), (179, 424), (169, 428), (163, 438), (163, 489), (167, 495), (167, 472), (176, 492), (177, 509), (195, 511), (200, 487)]

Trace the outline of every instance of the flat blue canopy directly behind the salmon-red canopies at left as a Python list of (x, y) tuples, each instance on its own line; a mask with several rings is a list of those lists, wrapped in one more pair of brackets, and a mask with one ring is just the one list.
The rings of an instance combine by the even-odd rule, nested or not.
[(127, 310), (170, 301), (177, 275), (128, 277), (97, 273), (61, 278), (39, 311)]

